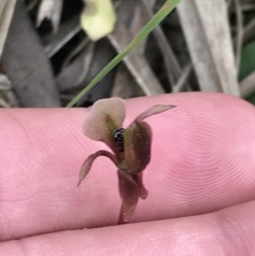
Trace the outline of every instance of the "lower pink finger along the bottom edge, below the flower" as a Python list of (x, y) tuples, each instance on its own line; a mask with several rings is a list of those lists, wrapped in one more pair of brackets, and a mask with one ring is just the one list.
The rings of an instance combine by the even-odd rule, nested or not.
[(31, 236), (0, 243), (0, 254), (253, 256), (254, 211), (247, 202), (194, 217)]

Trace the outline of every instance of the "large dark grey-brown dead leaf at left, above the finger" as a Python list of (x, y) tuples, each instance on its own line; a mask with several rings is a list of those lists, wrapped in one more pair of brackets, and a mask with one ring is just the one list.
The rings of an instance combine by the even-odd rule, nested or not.
[(59, 107), (56, 81), (42, 43), (31, 24), (25, 3), (17, 1), (1, 60), (8, 79), (14, 83), (31, 76), (14, 88), (20, 104), (27, 107)]

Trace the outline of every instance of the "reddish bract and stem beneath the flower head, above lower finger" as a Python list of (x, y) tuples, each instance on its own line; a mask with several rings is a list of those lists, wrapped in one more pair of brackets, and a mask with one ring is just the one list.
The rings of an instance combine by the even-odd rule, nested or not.
[(119, 224), (127, 223), (132, 216), (138, 200), (139, 200), (139, 186), (133, 180), (130, 174), (118, 170), (119, 190), (122, 197), (122, 210), (120, 213)]

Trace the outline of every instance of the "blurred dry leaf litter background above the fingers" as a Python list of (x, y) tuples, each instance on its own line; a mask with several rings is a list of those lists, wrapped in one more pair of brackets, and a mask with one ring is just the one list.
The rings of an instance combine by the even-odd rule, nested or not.
[[(65, 106), (165, 1), (111, 3), (114, 30), (94, 41), (81, 26), (81, 14), (94, 14), (86, 11), (88, 1), (1, 0), (0, 107)], [(232, 94), (255, 104), (254, 0), (182, 0), (76, 106), (187, 91)]]

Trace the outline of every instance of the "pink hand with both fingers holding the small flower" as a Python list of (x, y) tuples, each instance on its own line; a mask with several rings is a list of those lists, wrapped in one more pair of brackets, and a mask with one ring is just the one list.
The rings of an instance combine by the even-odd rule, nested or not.
[(124, 127), (156, 104), (177, 107), (146, 119), (149, 196), (119, 226), (110, 160), (77, 188), (85, 158), (108, 150), (82, 135), (87, 110), (1, 110), (0, 255), (255, 255), (254, 107), (224, 94), (144, 97), (127, 100)]

